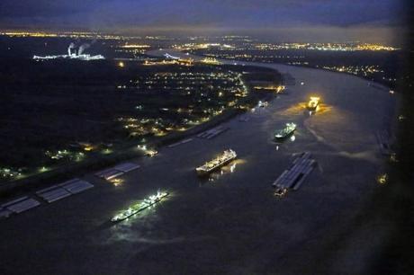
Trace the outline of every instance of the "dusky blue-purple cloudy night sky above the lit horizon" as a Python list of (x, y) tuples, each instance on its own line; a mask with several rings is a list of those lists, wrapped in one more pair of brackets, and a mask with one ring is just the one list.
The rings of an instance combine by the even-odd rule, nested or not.
[[(400, 29), (401, 0), (1, 0), (6, 28), (264, 31), (318, 38)], [(286, 31), (289, 30), (289, 31)], [(374, 32), (373, 32), (374, 30)], [(376, 31), (376, 32), (375, 32)], [(372, 33), (373, 32), (373, 33)], [(378, 33), (377, 33), (378, 32)]]

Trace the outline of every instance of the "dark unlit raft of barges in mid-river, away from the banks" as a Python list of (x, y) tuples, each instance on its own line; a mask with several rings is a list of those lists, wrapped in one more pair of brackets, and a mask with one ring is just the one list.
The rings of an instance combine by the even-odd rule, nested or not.
[(316, 161), (311, 158), (311, 153), (304, 152), (299, 155), (273, 183), (276, 194), (284, 194), (289, 190), (297, 191), (311, 174), (315, 165)]

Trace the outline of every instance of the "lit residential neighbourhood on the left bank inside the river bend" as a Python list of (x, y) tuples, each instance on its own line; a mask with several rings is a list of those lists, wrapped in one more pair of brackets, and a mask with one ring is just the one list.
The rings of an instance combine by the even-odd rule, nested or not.
[[(200, 87), (205, 87), (200, 89)], [(139, 75), (137, 79), (130, 80), (129, 84), (120, 84), (118, 89), (135, 89), (148, 93), (154, 90), (163, 93), (167, 90), (175, 90), (177, 95), (193, 95), (193, 103), (178, 108), (159, 108), (164, 115), (166, 113), (180, 114), (179, 120), (166, 120), (162, 117), (146, 117), (146, 108), (143, 104), (136, 106), (141, 117), (121, 117), (117, 119), (123, 128), (130, 132), (131, 137), (143, 137), (153, 135), (165, 136), (172, 131), (184, 131), (195, 125), (211, 120), (228, 108), (238, 108), (238, 98), (246, 97), (247, 85), (242, 80), (242, 75), (231, 71), (217, 70), (209, 73), (191, 71), (157, 72), (149, 75)], [(198, 102), (217, 102), (214, 107), (197, 108)], [(173, 117), (176, 117), (175, 115)]]

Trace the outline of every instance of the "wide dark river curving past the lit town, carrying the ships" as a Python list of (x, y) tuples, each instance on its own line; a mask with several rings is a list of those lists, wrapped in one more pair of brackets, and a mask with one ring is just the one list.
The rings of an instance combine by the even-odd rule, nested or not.
[[(246, 122), (224, 123), (229, 130), (218, 137), (193, 137), (156, 157), (134, 160), (141, 167), (119, 186), (86, 174), (94, 189), (1, 221), (0, 272), (299, 274), (311, 273), (315, 261), (320, 272), (366, 271), (366, 257), (387, 230), (349, 225), (381, 188), (375, 179), (384, 157), (375, 134), (391, 127), (395, 95), (352, 75), (250, 64), (289, 73), (297, 84), (265, 109), (248, 112)], [(303, 106), (314, 94), (323, 104), (311, 116)], [(294, 141), (276, 146), (273, 131), (291, 121), (298, 125)], [(200, 180), (194, 168), (227, 148), (238, 153), (238, 161)], [(317, 169), (299, 191), (275, 198), (272, 182), (304, 151), (318, 161)], [(108, 223), (157, 189), (172, 195), (137, 217)], [(361, 245), (349, 253), (355, 242), (344, 240), (329, 253), (322, 250), (344, 235)]]

